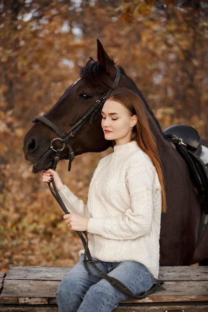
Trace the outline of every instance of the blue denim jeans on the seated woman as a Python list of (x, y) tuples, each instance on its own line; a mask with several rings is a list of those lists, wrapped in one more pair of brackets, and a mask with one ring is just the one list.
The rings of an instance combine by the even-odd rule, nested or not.
[[(92, 273), (99, 275), (91, 265), (88, 266)], [(150, 271), (136, 261), (100, 262), (96, 266), (118, 279), (134, 294), (149, 290), (155, 282)], [(56, 303), (59, 312), (111, 312), (127, 299), (105, 279), (90, 275), (85, 270), (81, 256), (61, 281)]]

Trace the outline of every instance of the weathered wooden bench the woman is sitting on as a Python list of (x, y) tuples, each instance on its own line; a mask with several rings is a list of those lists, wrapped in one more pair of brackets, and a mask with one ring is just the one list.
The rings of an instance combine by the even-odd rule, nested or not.
[[(70, 269), (25, 266), (0, 273), (0, 312), (57, 312), (55, 293)], [(208, 266), (161, 267), (159, 280), (165, 290), (120, 303), (114, 311), (208, 312)]]

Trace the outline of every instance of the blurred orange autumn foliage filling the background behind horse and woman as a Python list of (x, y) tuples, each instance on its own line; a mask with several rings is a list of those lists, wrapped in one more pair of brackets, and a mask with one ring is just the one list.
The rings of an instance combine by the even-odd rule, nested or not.
[[(89, 56), (96, 59), (96, 38), (134, 79), (163, 129), (184, 123), (208, 137), (208, 0), (0, 0), (3, 270), (76, 260), (63, 243), (59, 208), (24, 163), (21, 146), (32, 119), (55, 104)], [(78, 157), (70, 172), (83, 199), (99, 157)]]

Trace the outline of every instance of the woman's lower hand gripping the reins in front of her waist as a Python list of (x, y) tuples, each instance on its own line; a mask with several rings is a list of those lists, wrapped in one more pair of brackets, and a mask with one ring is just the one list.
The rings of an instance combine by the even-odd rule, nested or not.
[(85, 217), (82, 217), (75, 213), (65, 214), (63, 218), (68, 224), (68, 227), (74, 231), (87, 231), (88, 220)]

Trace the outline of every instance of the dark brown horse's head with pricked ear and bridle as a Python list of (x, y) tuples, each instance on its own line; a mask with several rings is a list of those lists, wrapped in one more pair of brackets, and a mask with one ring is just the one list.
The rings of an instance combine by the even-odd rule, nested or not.
[(68, 159), (71, 152), (70, 147), (74, 155), (79, 155), (86, 152), (101, 152), (112, 145), (111, 142), (104, 139), (101, 128), (101, 106), (95, 109), (91, 119), (87, 118), (78, 127), (78, 131), (76, 129), (72, 135), (69, 133), (68, 144), (65, 147), (60, 140), (53, 141), (51, 146), (51, 141), (61, 138), (61, 134), (59, 131), (55, 131), (54, 127), (50, 127), (47, 120), (59, 129), (64, 137), (64, 134), (71, 131), (73, 126), (79, 124), (83, 116), (88, 114), (98, 99), (102, 99), (106, 92), (115, 87), (114, 84), (139, 92), (135, 83), (121, 67), (119, 67), (121, 76), (119, 79), (117, 78), (118, 69), (99, 40), (97, 40), (97, 49), (98, 60), (89, 59), (86, 66), (80, 71), (80, 79), (68, 87), (58, 102), (44, 114), (42, 120), (41, 118), (35, 120), (34, 125), (25, 135), (24, 158), (29, 164), (33, 164), (34, 173), (51, 167), (55, 156), (54, 150), (58, 146), (62, 149), (60, 159)]

